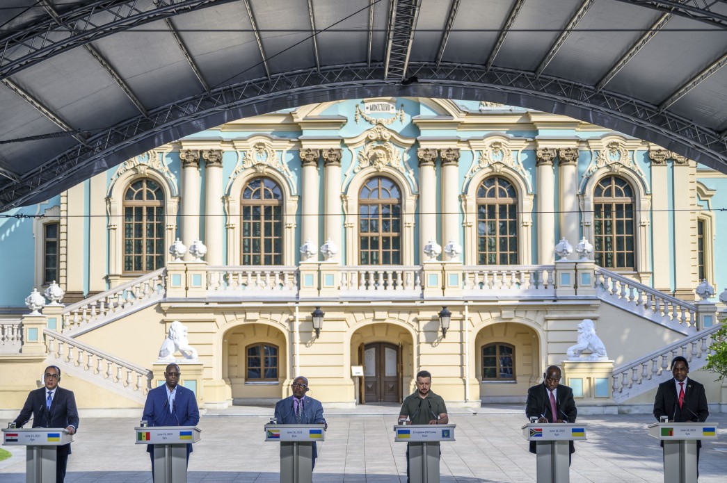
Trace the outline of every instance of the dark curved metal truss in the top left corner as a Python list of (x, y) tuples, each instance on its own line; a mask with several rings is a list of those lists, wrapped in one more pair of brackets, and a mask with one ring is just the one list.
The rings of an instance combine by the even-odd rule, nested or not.
[(95, 0), (76, 5), (1, 38), (0, 79), (118, 31), (232, 1), (158, 0), (156, 6), (144, 2), (140, 7), (138, 0)]

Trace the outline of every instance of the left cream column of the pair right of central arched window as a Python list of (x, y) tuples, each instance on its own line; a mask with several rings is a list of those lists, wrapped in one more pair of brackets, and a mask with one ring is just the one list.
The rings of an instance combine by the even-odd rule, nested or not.
[[(419, 159), (419, 260), (423, 260), (422, 250), (429, 240), (444, 245), (446, 241), (437, 240), (437, 192), (435, 161), (437, 150), (425, 148), (417, 150)], [(416, 255), (414, 260), (416, 260)]]

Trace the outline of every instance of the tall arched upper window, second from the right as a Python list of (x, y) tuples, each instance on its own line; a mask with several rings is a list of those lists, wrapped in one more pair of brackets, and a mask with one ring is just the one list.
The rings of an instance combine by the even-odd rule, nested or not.
[(518, 193), (499, 176), (477, 189), (477, 263), (518, 264)]

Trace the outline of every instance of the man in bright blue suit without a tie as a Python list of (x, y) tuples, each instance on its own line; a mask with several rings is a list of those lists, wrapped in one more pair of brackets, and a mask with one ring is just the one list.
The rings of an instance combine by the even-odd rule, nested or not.
[[(194, 392), (179, 385), (182, 376), (180, 366), (171, 364), (164, 370), (166, 384), (149, 391), (146, 395), (142, 421), (149, 426), (197, 426), (199, 409)], [(151, 458), (151, 472), (154, 472), (154, 445), (147, 445)], [(191, 443), (187, 445), (187, 461), (192, 452)]]

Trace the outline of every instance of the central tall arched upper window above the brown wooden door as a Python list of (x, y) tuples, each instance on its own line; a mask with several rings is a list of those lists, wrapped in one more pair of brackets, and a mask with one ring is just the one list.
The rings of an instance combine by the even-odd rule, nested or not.
[(371, 178), (358, 196), (359, 264), (401, 264), (401, 195), (390, 179)]

